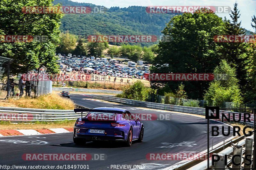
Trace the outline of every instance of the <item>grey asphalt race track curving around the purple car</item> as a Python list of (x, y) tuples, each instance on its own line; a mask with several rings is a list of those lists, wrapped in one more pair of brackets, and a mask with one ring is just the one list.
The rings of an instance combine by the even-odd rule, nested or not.
[[(207, 122), (204, 118), (93, 101), (90, 100), (92, 95), (89, 94), (71, 94), (70, 98), (77, 104), (88, 108), (105, 106), (121, 107), (127, 108), (131, 113), (169, 115), (170, 119), (142, 121), (144, 124), (143, 142), (137, 143), (134, 141), (131, 147), (124, 147), (122, 143), (109, 142), (88, 142), (85, 145), (75, 145), (73, 143), (72, 133), (0, 137), (0, 165), (88, 165), (87, 167), (92, 170), (117, 168), (164, 169), (180, 160), (149, 160), (146, 158), (146, 155), (148, 153), (202, 152), (207, 149)], [(223, 125), (219, 122), (211, 122), (211, 124)], [(217, 144), (227, 138), (229, 137), (211, 137), (211, 145)], [(97, 159), (97, 155), (94, 155), (96, 153), (104, 154), (105, 160), (30, 161), (22, 159), (22, 155), (25, 153), (90, 153), (93, 155), (92, 159)], [(114, 168), (113, 165), (131, 165), (131, 167), (123, 168), (116, 166)]]

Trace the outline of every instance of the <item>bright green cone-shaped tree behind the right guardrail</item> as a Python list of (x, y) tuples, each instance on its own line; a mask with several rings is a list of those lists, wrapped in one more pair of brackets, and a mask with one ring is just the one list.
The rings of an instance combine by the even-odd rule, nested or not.
[(224, 102), (234, 102), (236, 107), (242, 104), (239, 80), (236, 78), (236, 69), (232, 68), (226, 60), (221, 60), (214, 74), (226, 74), (227, 80), (215, 80), (210, 83), (208, 90), (204, 94), (204, 100), (208, 105), (224, 106)]

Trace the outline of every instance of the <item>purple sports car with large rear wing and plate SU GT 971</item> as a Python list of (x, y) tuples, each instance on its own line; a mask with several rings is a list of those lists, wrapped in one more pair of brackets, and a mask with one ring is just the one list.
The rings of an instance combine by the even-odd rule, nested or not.
[[(144, 134), (143, 123), (140, 118), (134, 118), (126, 109), (117, 107), (98, 107), (94, 109), (74, 109), (81, 113), (76, 120), (73, 133), (75, 144), (85, 144), (96, 140), (124, 141), (127, 146), (133, 140), (142, 142)], [(84, 112), (89, 112), (83, 116)]]

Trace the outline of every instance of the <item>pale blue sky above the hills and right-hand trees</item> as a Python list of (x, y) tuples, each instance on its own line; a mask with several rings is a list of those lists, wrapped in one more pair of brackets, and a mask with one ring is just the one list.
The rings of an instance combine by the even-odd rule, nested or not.
[[(251, 26), (252, 16), (256, 16), (256, 0), (72, 0), (74, 2), (92, 3), (107, 8), (112, 6), (230, 6), (238, 3), (242, 21), (242, 27), (253, 31)], [(230, 18), (228, 13), (218, 13), (218, 16)]]

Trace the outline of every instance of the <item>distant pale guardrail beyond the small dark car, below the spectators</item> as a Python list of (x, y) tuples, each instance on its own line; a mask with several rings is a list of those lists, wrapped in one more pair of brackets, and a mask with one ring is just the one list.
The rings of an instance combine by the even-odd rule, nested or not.
[(121, 94), (122, 93), (122, 91), (116, 91), (116, 90), (82, 89), (82, 88), (68, 88), (68, 87), (53, 87), (52, 90), (75, 91), (75, 92), (98, 92), (98, 93), (113, 93), (113, 94)]

